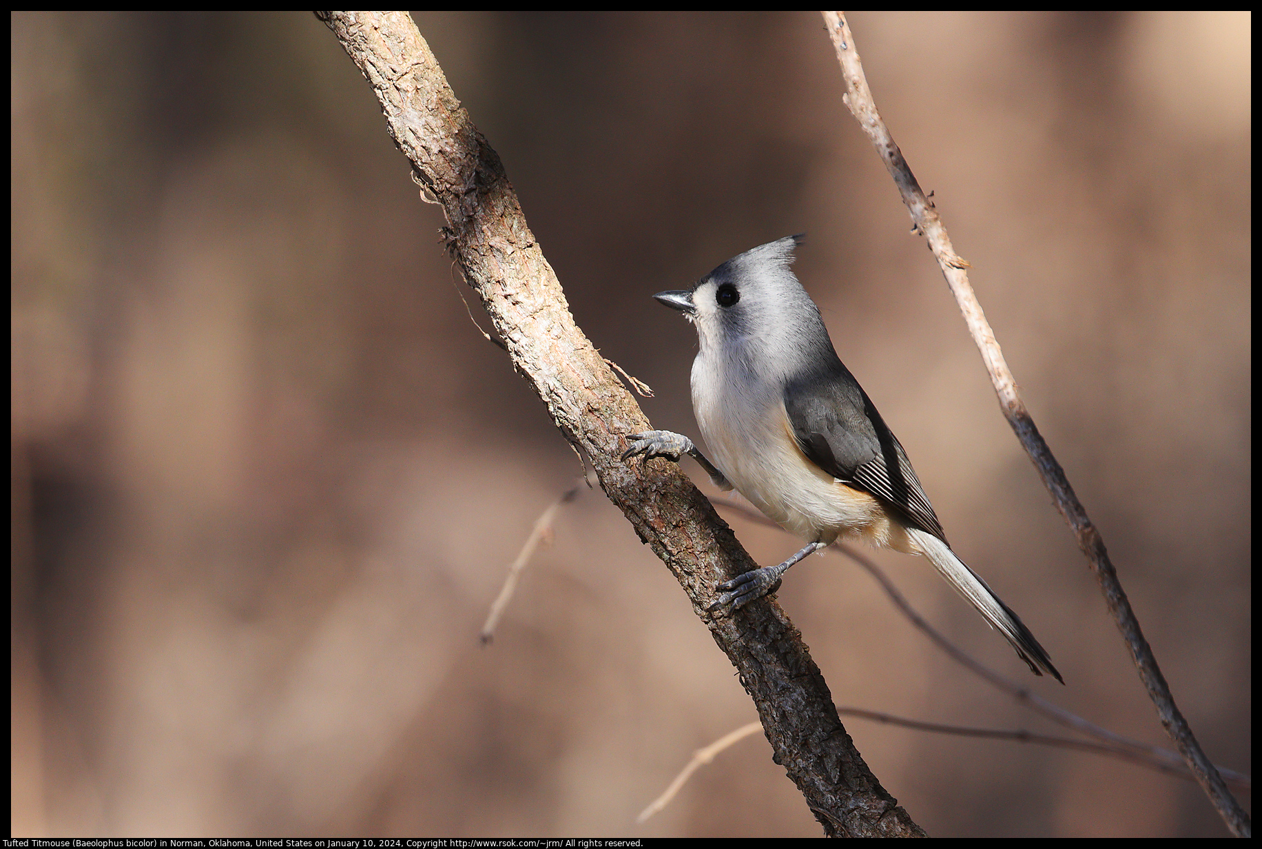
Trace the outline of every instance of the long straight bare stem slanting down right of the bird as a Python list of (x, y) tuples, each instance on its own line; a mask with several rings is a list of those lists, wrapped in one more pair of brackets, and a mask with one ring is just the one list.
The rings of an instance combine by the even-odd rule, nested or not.
[(1078, 500), (1078, 495), (1074, 494), (1073, 486), (1069, 485), (1069, 479), (1065, 476), (1064, 469), (1060, 467), (1060, 462), (1051, 454), (1051, 449), (1047, 447), (1046, 441), (1039, 433), (1039, 428), (1035, 427), (1030, 411), (1026, 409), (1025, 402), (1021, 400), (1021, 395), (1017, 392), (1017, 382), (1003, 360), (1003, 351), (1000, 350), (994, 332), (991, 330), (991, 325), (986, 321), (986, 315), (982, 312), (982, 304), (973, 293), (972, 286), (969, 286), (968, 274), (964, 272), (968, 268), (968, 263), (955, 254), (950, 238), (946, 235), (946, 227), (938, 216), (938, 211), (929, 198), (925, 197), (920, 183), (911, 173), (911, 167), (904, 159), (902, 152), (893, 143), (893, 136), (876, 110), (876, 101), (872, 99), (872, 92), (868, 88), (867, 77), (863, 73), (863, 66), (859, 63), (859, 54), (854, 47), (854, 35), (851, 33), (849, 24), (846, 23), (846, 16), (839, 11), (824, 11), (822, 14), (824, 15), (828, 34), (833, 40), (833, 47), (837, 51), (837, 61), (842, 66), (842, 76), (846, 80), (846, 93), (842, 96), (842, 100), (849, 107), (851, 114), (854, 115), (859, 126), (863, 128), (863, 131), (867, 133), (877, 153), (881, 155), (881, 160), (885, 162), (890, 176), (893, 177), (893, 182), (899, 187), (899, 193), (902, 196), (902, 202), (907, 206), (916, 229), (929, 240), (929, 248), (934, 251), (934, 256), (938, 258), (938, 264), (946, 277), (946, 284), (955, 294), (955, 301), (964, 315), (964, 321), (973, 335), (973, 341), (977, 342), (977, 347), (982, 352), (986, 370), (991, 374), (991, 382), (994, 384), (994, 392), (1000, 398), (1000, 407), (1003, 409), (1005, 417), (1039, 470), (1039, 476), (1056, 502), (1056, 508), (1065, 517), (1065, 521), (1076, 536), (1079, 548), (1087, 555), (1092, 571), (1099, 581), (1100, 591), (1104, 594), (1104, 601), (1113, 615), (1113, 622), (1117, 624), (1118, 630), (1122, 632), (1127, 648), (1131, 649), (1135, 666), (1140, 671), (1140, 678), (1148, 690), (1148, 696), (1152, 699), (1153, 705), (1156, 705), (1161, 725), (1166, 729), (1166, 734), (1175, 742), (1188, 767), (1196, 777), (1196, 783), (1209, 796), (1210, 802), (1218, 810), (1223, 821), (1227, 822), (1227, 828), (1232, 830), (1232, 834), (1239, 838), (1251, 836), (1252, 824), (1249, 815), (1244, 812), (1244, 809), (1232, 796), (1218, 769), (1214, 768), (1209, 757), (1201, 750), (1200, 743), (1188, 726), (1188, 721), (1175, 704), (1174, 696), (1170, 695), (1170, 687), (1166, 683), (1165, 676), (1161, 673), (1152, 648), (1140, 629), (1140, 620), (1131, 609), (1131, 603), (1122, 590), (1121, 580), (1118, 580), (1117, 570), (1113, 569), (1108, 551), (1104, 548), (1104, 538), (1095, 526), (1092, 524), (1085, 508)]

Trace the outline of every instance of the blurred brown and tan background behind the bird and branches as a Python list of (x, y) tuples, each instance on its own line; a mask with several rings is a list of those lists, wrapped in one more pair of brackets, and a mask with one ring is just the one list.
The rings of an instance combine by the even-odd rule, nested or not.
[[(1249, 771), (1249, 14), (849, 20), (1176, 699)], [(13, 834), (819, 835), (760, 735), (635, 824), (756, 715), (598, 489), (478, 644), (582, 469), (469, 321), (440, 211), (329, 30), (10, 21)], [(818, 14), (416, 23), (656, 427), (697, 436), (695, 335), (649, 296), (805, 231), (838, 352), (1066, 686), (924, 561), (880, 562), (987, 663), (1169, 745)], [(762, 562), (800, 545), (731, 522)], [(779, 598), (839, 705), (1055, 730), (839, 556)], [(846, 725), (933, 835), (1227, 834), (1193, 783), (1118, 761)]]

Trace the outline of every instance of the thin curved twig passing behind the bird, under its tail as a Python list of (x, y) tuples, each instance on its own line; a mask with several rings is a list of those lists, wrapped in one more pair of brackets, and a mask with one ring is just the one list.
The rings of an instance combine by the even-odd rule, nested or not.
[[(714, 504), (716, 507), (723, 507), (731, 510), (736, 510), (737, 513), (748, 518), (752, 522), (757, 522), (760, 524), (765, 524), (772, 528), (780, 527), (771, 519), (762, 515), (762, 513), (760, 513), (758, 510), (747, 507), (740, 502), (733, 502), (726, 498), (712, 497), (711, 503)], [(1116, 747), (1119, 750), (1126, 750), (1128, 753), (1128, 757), (1131, 757), (1132, 759), (1143, 762), (1155, 769), (1175, 772), (1182, 774), (1182, 777), (1185, 778), (1195, 780), (1195, 776), (1191, 773), (1191, 771), (1188, 769), (1188, 764), (1184, 763), (1182, 758), (1179, 757), (1177, 752), (1171, 752), (1170, 749), (1164, 749), (1160, 745), (1150, 745), (1147, 743), (1141, 743), (1140, 740), (1133, 740), (1128, 737), (1122, 737), (1121, 734), (1116, 734), (1114, 732), (1111, 732), (1107, 728), (1102, 728), (1095, 723), (1092, 723), (1074, 713), (1065, 710), (1060, 705), (1047, 701), (1046, 699), (1032, 692), (1025, 685), (1017, 683), (1016, 681), (1007, 678), (996, 672), (994, 670), (989, 668), (988, 666), (974, 658), (972, 654), (962, 649), (959, 646), (946, 639), (946, 637), (940, 630), (930, 625), (929, 622), (925, 620), (925, 618), (921, 617), (920, 613), (911, 606), (911, 603), (907, 601), (907, 598), (902, 595), (901, 591), (899, 591), (899, 587), (893, 585), (893, 581), (890, 580), (890, 577), (885, 574), (885, 571), (880, 566), (877, 566), (872, 558), (852, 548), (851, 546), (847, 546), (840, 542), (834, 542), (833, 547), (838, 548), (847, 557), (849, 557), (856, 563), (862, 566), (868, 572), (868, 575), (876, 579), (877, 584), (881, 585), (881, 589), (885, 590), (885, 594), (890, 596), (890, 600), (893, 601), (895, 606), (899, 608), (902, 615), (905, 615), (907, 620), (911, 622), (912, 625), (919, 628), (931, 641), (938, 643), (938, 647), (941, 648), (944, 652), (946, 652), (946, 654), (950, 656), (957, 663), (968, 667), (974, 673), (977, 673), (987, 682), (989, 682), (992, 686), (1002, 690), (1003, 692), (1007, 692), (1018, 702), (1027, 705), (1029, 708), (1042, 714), (1054, 723), (1058, 723), (1060, 725), (1064, 725), (1065, 728), (1075, 730), (1079, 734), (1087, 734), (1089, 737), (1094, 737), (1099, 740), (1103, 740), (1106, 744), (1104, 748)], [(844, 713), (844, 711), (840, 708), (838, 708), (838, 713)], [(1228, 781), (1230, 781), (1233, 786), (1241, 790), (1252, 790), (1253, 780), (1248, 774), (1235, 772), (1234, 769), (1224, 769), (1222, 767), (1219, 767), (1219, 771)]]

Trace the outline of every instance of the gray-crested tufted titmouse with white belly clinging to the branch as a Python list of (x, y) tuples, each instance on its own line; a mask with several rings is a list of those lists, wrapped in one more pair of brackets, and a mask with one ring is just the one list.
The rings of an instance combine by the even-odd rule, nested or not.
[(689, 454), (722, 489), (810, 543), (777, 566), (718, 585), (729, 614), (780, 586), (785, 571), (834, 539), (924, 555), (998, 629), (1035, 675), (1064, 683), (1030, 629), (950, 550), (911, 461), (842, 365), (819, 307), (789, 270), (800, 236), (734, 256), (692, 289), (652, 296), (697, 327), (693, 411), (713, 452), (670, 431), (627, 436), (622, 459)]

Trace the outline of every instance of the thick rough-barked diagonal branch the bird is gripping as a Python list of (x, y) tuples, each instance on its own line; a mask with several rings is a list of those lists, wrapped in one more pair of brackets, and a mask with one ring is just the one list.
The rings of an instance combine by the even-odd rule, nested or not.
[(495, 150), (447, 85), (406, 13), (321, 11), (367, 78), (390, 135), (512, 359), (562, 435), (592, 462), (622, 509), (688, 593), (740, 672), (774, 759), (829, 836), (924, 836), (871, 773), (838, 719), (832, 694), (793, 623), (771, 600), (734, 619), (703, 611), (717, 582), (753, 569), (731, 528), (674, 464), (618, 460), (622, 435), (647, 430), (631, 394), (575, 326), (560, 283), (526, 226)]

